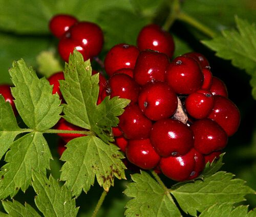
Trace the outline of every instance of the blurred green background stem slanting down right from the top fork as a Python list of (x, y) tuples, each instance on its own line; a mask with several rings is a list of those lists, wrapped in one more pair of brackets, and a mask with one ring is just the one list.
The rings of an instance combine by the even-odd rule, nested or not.
[(199, 22), (195, 18), (187, 15), (184, 12), (180, 12), (177, 16), (177, 19), (184, 21), (184, 22), (188, 23), (189, 25), (195, 27), (196, 29), (200, 30), (202, 33), (209, 36), (210, 38), (213, 38), (216, 35), (216, 33), (214, 31), (212, 31), (208, 27), (204, 26), (201, 22)]

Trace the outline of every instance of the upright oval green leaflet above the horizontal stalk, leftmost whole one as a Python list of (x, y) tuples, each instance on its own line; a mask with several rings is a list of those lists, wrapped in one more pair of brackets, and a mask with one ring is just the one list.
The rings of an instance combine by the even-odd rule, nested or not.
[(12, 88), (15, 106), (25, 124), (37, 131), (53, 127), (60, 118), (62, 107), (58, 94), (52, 94), (52, 86), (46, 78), (38, 79), (23, 59), (13, 62), (10, 75), (15, 85)]

